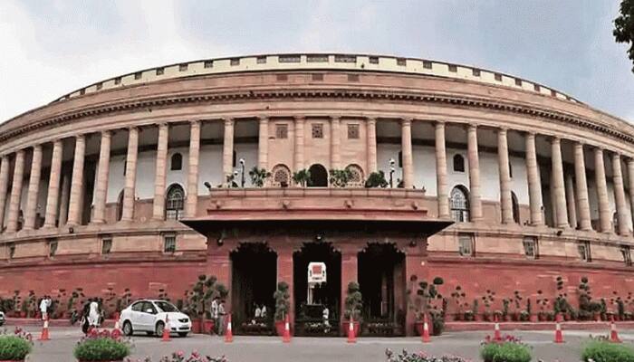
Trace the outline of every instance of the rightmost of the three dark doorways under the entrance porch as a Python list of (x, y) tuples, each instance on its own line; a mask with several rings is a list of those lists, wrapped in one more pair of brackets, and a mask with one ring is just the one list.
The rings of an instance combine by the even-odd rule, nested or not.
[(364, 321), (367, 326), (384, 326), (367, 332), (375, 335), (405, 334), (403, 327), (408, 308), (405, 299), (405, 254), (393, 243), (368, 243), (358, 257)]

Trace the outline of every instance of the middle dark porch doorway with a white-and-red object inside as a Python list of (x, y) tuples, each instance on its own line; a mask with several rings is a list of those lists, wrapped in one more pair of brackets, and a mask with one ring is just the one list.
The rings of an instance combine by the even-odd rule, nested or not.
[[(312, 263), (312, 264), (311, 264)], [(309, 294), (309, 265), (325, 266), (326, 281), (312, 283)], [(337, 336), (341, 301), (341, 252), (331, 243), (304, 243), (293, 252), (295, 334), (298, 336)], [(323, 311), (329, 320), (323, 323)]]

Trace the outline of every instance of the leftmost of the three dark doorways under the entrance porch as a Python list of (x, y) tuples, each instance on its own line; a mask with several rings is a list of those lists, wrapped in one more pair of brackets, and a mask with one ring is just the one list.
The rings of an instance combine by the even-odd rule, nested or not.
[[(273, 330), (277, 254), (266, 243), (240, 243), (231, 252), (231, 310), (237, 333), (259, 327)], [(264, 318), (255, 318), (255, 309), (266, 307)], [(255, 323), (254, 323), (255, 322)]]

